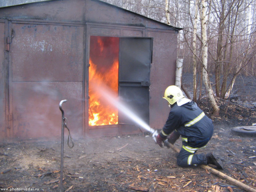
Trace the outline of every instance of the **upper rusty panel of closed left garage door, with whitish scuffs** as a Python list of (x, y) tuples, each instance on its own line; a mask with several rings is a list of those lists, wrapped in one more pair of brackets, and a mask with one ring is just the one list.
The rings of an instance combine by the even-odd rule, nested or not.
[(83, 27), (12, 23), (13, 81), (83, 81)]

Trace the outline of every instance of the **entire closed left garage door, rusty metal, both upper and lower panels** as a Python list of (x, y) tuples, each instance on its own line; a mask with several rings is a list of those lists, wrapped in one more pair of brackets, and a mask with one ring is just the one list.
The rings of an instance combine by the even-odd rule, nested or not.
[(9, 63), (14, 138), (60, 136), (63, 99), (73, 135), (82, 134), (83, 27), (12, 23)]

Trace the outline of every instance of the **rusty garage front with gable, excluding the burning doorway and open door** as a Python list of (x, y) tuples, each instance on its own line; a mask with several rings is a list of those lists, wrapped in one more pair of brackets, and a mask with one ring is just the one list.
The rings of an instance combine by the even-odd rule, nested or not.
[[(116, 126), (88, 129), (91, 35), (153, 37), (149, 119), (154, 128), (164, 124), (169, 109), (162, 94), (174, 83), (176, 66), (177, 34), (170, 26), (98, 0), (55, 0), (0, 8), (0, 19), (9, 20), (9, 35), (13, 37), (10, 60), (5, 62), (10, 74), (9, 89), (5, 90), (9, 90), (8, 104), (13, 114), (10, 135), (14, 138), (59, 136), (58, 103), (62, 99), (68, 99), (63, 108), (70, 117), (73, 134), (122, 134)], [(0, 26), (4, 30), (1, 22)], [(4, 44), (0, 43), (3, 50), (1, 46)], [(1, 54), (0, 59), (4, 57)], [(6, 103), (0, 104), (0, 110)], [(0, 118), (5, 119), (4, 115)], [(0, 133), (6, 129), (3, 121), (5, 127)]]

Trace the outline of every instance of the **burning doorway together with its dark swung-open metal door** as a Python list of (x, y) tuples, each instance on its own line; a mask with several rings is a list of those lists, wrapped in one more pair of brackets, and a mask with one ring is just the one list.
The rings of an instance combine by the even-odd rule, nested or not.
[(118, 126), (122, 133), (138, 129), (126, 111), (107, 101), (109, 91), (149, 123), (152, 42), (152, 38), (90, 36), (89, 129)]

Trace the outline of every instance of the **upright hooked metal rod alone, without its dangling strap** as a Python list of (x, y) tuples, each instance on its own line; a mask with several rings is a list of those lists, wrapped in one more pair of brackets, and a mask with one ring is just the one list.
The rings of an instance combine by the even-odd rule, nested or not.
[(61, 178), (60, 178), (60, 192), (63, 192), (63, 153), (64, 153), (64, 111), (62, 109), (62, 103), (66, 102), (67, 100), (61, 100), (59, 104), (59, 108), (62, 113), (62, 120), (61, 120)]

